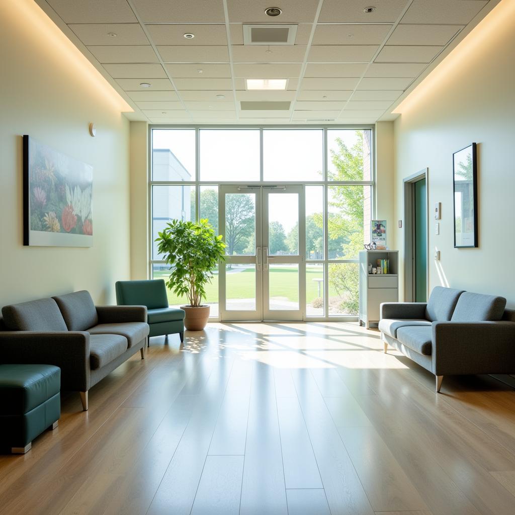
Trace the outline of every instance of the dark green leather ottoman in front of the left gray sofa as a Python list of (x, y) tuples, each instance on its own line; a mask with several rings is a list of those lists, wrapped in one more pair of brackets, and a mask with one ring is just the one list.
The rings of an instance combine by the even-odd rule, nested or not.
[(0, 365), (0, 445), (25, 454), (32, 440), (55, 429), (61, 415), (61, 369)]

